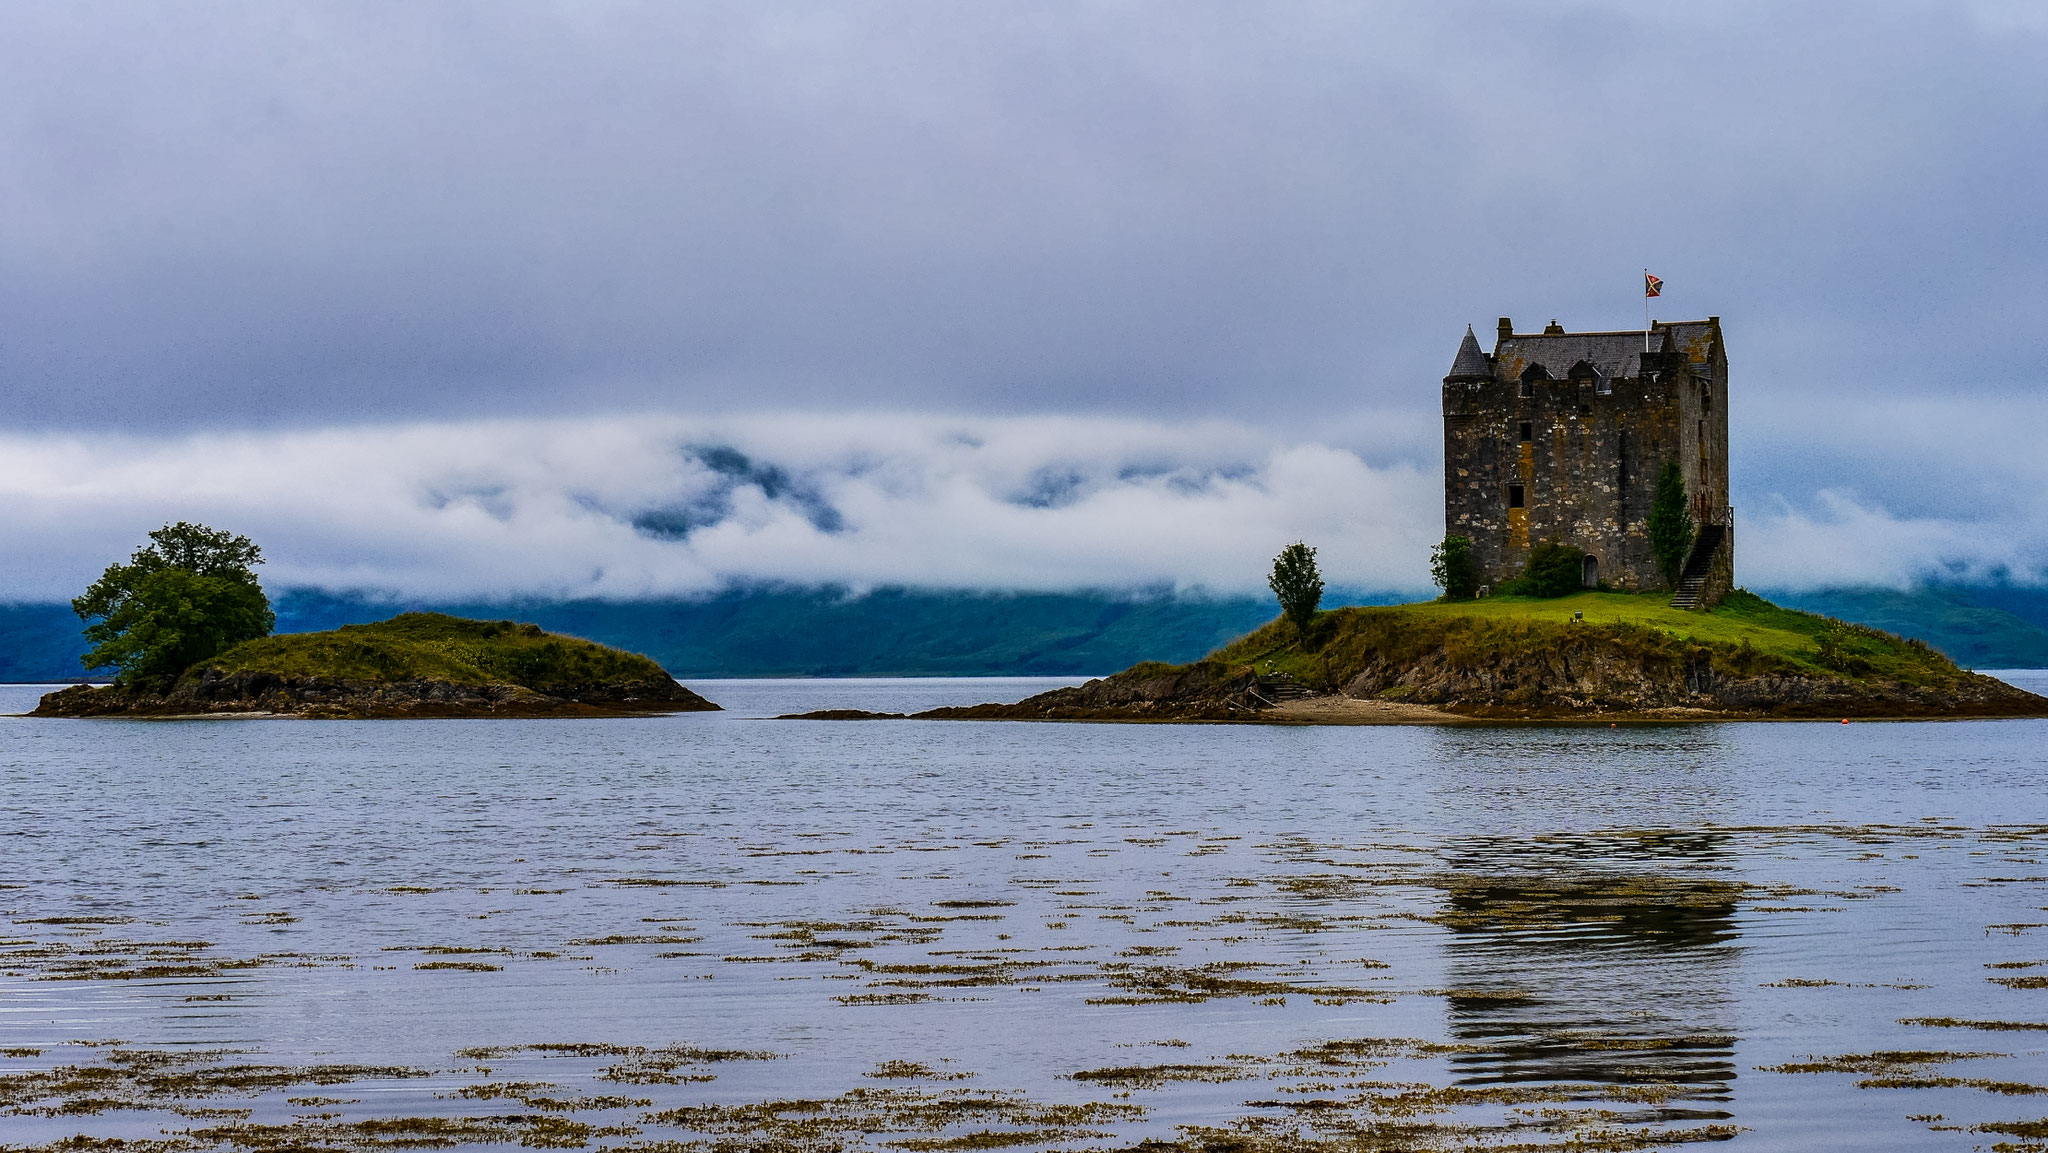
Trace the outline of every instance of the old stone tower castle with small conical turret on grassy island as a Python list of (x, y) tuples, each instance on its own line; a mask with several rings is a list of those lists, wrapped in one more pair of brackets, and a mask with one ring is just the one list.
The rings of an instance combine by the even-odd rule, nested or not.
[(1473, 541), (1481, 586), (1522, 575), (1530, 547), (1554, 541), (1585, 551), (1587, 588), (1667, 588), (1649, 539), (1667, 461), (1698, 530), (1673, 604), (1712, 606), (1735, 584), (1720, 317), (1649, 332), (1516, 332), (1501, 317), (1493, 354), (1464, 330), (1444, 377), (1444, 530)]

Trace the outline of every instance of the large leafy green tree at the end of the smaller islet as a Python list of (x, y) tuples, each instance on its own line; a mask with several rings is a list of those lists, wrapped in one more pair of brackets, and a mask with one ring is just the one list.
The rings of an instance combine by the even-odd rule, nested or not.
[(195, 664), (276, 627), (252, 567), (262, 549), (248, 537), (180, 520), (150, 541), (72, 600), (92, 645), (80, 657), (88, 670), (113, 668), (117, 684), (162, 690)]

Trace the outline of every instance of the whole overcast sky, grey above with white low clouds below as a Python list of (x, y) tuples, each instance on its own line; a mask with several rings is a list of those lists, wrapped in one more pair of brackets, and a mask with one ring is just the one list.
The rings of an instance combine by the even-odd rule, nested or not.
[[(1636, 326), (1645, 266), (1659, 315), (1726, 326), (1755, 573), (2040, 580), (2044, 190), (2034, 0), (12, 4), (0, 598), (233, 514), (231, 483), (305, 492), (303, 522), (229, 526), (362, 586), (897, 580), (848, 549), (944, 508), (895, 567), (1217, 584), (1290, 524), (1413, 582), (1464, 326)], [(602, 512), (590, 428), (659, 434)], [(416, 516), (463, 506), (434, 506), (442, 442), (516, 477), (502, 524), (565, 500), (627, 532), (449, 547)], [(838, 487), (885, 465), (907, 504)], [(1153, 492), (1182, 545), (907, 496), (965, 475), (1051, 520)], [(1204, 485), (1268, 504), (1214, 535)], [(844, 547), (713, 549), (750, 492)], [(678, 500), (688, 528), (649, 520)]]

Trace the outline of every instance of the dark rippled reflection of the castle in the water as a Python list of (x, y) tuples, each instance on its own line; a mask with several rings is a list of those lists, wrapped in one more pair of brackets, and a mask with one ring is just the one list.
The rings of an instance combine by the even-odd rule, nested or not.
[[(1448, 1026), (1466, 1085), (1642, 1085), (1726, 1102), (1735, 1081), (1737, 901), (1716, 831), (1460, 838)], [(1665, 1108), (1661, 1116), (1726, 1116)]]

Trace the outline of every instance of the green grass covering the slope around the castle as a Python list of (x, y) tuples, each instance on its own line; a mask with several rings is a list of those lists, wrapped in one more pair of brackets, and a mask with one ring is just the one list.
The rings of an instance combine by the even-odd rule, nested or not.
[[(1823, 655), (1825, 635), (1833, 637), (1833, 659)], [(1442, 651), (1458, 666), (1479, 666), (1567, 645), (1606, 645), (1653, 661), (1708, 661), (1726, 676), (1825, 676), (1915, 686), (1942, 686), (1966, 676), (1919, 641), (1780, 608), (1743, 590), (1729, 594), (1712, 612), (1671, 608), (1669, 594), (1624, 592), (1333, 608), (1317, 614), (1307, 645), (1292, 625), (1272, 621), (1204, 659), (1257, 666), (1262, 672), (1272, 666), (1305, 684), (1335, 688), (1376, 659), (1407, 664)]]

